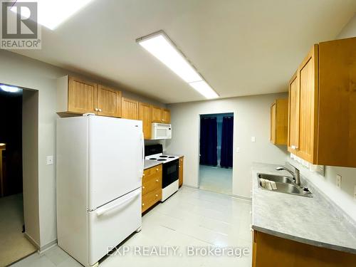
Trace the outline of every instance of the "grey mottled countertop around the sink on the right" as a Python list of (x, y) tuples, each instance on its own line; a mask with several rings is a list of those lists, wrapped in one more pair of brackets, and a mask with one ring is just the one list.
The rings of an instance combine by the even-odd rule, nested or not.
[(356, 254), (356, 226), (330, 199), (306, 181), (313, 198), (258, 187), (257, 174), (283, 174), (281, 165), (253, 163), (252, 167), (252, 229), (304, 244)]

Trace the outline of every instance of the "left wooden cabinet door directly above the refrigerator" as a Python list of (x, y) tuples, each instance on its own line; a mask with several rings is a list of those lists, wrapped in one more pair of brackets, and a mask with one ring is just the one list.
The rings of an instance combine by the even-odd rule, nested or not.
[(68, 81), (68, 112), (96, 112), (98, 85), (69, 77)]

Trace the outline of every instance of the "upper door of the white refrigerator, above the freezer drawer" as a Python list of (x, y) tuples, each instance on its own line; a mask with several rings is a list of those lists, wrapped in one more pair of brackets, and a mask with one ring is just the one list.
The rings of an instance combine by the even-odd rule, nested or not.
[(142, 121), (88, 118), (88, 209), (141, 187)]

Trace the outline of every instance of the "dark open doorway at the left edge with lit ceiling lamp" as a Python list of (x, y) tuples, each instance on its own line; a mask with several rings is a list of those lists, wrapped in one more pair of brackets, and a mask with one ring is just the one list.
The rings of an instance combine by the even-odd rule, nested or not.
[(23, 89), (0, 84), (0, 266), (37, 250), (24, 234), (22, 107)]

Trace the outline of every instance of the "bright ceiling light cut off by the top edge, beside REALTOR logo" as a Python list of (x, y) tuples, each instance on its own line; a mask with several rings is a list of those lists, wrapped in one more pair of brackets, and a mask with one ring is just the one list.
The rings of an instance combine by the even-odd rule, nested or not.
[[(54, 30), (90, 1), (93, 0), (37, 0), (38, 23)], [(33, 2), (33, 0), (21, 0), (21, 2)], [(14, 6), (11, 11), (17, 13), (16, 7)]]

